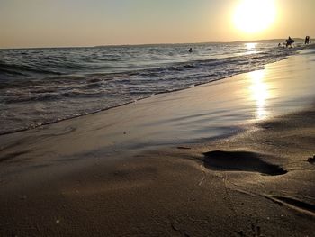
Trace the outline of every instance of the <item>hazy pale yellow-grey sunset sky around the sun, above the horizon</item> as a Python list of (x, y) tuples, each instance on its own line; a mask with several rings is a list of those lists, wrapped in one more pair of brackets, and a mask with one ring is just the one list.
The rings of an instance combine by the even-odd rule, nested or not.
[(255, 33), (239, 31), (233, 23), (242, 1), (0, 0), (0, 48), (238, 41), (315, 34), (315, 0), (271, 0), (276, 6), (275, 22)]

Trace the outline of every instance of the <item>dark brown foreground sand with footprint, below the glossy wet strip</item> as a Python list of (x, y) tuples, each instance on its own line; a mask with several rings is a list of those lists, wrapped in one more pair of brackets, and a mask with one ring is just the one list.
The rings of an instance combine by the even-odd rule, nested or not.
[(2, 180), (1, 235), (312, 236), (314, 119), (311, 109), (225, 140)]

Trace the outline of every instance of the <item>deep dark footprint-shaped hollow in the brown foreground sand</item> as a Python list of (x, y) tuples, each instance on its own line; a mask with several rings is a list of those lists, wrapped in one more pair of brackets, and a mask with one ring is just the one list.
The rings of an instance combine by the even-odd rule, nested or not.
[(266, 175), (284, 175), (280, 166), (267, 163), (261, 155), (249, 151), (213, 150), (203, 153), (204, 166), (208, 169), (259, 172)]

